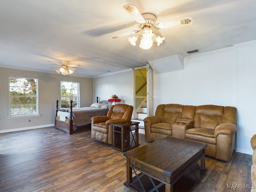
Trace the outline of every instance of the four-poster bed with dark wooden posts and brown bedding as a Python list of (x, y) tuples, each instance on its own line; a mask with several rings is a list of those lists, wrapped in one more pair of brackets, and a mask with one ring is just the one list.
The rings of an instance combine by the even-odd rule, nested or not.
[(89, 126), (94, 116), (106, 116), (109, 104), (107, 100), (93, 103), (90, 107), (73, 108), (73, 101), (70, 101), (70, 108), (58, 108), (56, 100), (56, 113), (54, 127), (72, 134), (79, 128)]

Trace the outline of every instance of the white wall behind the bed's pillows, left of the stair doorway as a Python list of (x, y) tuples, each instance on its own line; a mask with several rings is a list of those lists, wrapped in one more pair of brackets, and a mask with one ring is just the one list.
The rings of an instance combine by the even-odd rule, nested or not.
[(100, 101), (108, 100), (116, 94), (121, 99), (120, 103), (133, 106), (133, 90), (132, 70), (93, 78), (93, 98), (98, 96)]

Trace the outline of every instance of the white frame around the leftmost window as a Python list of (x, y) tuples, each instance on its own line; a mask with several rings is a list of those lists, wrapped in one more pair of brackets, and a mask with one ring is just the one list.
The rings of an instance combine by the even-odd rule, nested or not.
[[(36, 113), (30, 113), (30, 114), (15, 114), (15, 115), (12, 115), (11, 114), (11, 87), (13, 86), (10, 86), (10, 80), (11, 78), (16, 78), (16, 79), (33, 79), (33, 80), (36, 80), (36, 94), (33, 96), (36, 98)], [(8, 80), (8, 94), (9, 94), (9, 110), (8, 110), (8, 118), (21, 118), (21, 117), (30, 117), (30, 116), (39, 116), (39, 95), (38, 95), (38, 78), (29, 78), (29, 77), (16, 77), (16, 76), (9, 76), (9, 80)]]

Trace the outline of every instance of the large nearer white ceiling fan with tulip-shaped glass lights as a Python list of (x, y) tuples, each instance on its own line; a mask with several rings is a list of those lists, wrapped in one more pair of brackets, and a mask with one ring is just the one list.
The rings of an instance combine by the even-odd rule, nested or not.
[[(185, 26), (185, 25), (190, 25), (192, 24), (192, 18), (187, 17), (187, 18), (182, 18), (182, 19), (176, 19), (176, 20), (170, 20), (166, 22), (161, 22), (161, 23), (156, 23), (156, 16), (151, 13), (144, 13), (140, 14), (138, 9), (136, 8), (135, 5), (130, 5), (127, 4), (124, 6), (124, 9), (134, 18), (134, 20), (138, 24), (138, 30), (133, 30), (130, 32), (125, 32), (122, 34), (119, 34), (118, 36), (112, 37), (112, 39), (116, 39), (122, 36), (128, 36), (131, 34), (136, 34), (140, 31), (142, 31), (141, 34), (138, 36), (133, 36), (128, 38), (129, 42), (132, 45), (136, 45), (136, 40), (139, 38), (142, 38), (140, 42), (140, 48), (142, 49), (149, 49), (152, 44), (160, 45), (164, 38), (161, 38), (160, 36), (156, 36), (152, 32), (152, 28), (155, 29), (164, 29), (164, 28), (171, 28), (171, 27), (176, 27), (176, 26)], [(145, 37), (145, 38), (144, 38)], [(143, 40), (144, 39), (144, 40)], [(152, 41), (152, 42), (151, 42)]]

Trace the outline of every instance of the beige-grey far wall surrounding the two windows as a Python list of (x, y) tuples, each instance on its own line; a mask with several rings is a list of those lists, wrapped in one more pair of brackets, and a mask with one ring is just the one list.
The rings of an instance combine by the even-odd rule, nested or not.
[[(38, 78), (38, 109), (40, 116), (8, 118), (9, 76)], [(54, 125), (56, 100), (60, 100), (60, 81), (79, 82), (80, 106), (90, 106), (92, 104), (92, 78), (0, 68), (0, 133)], [(29, 119), (31, 122), (28, 122)]]

